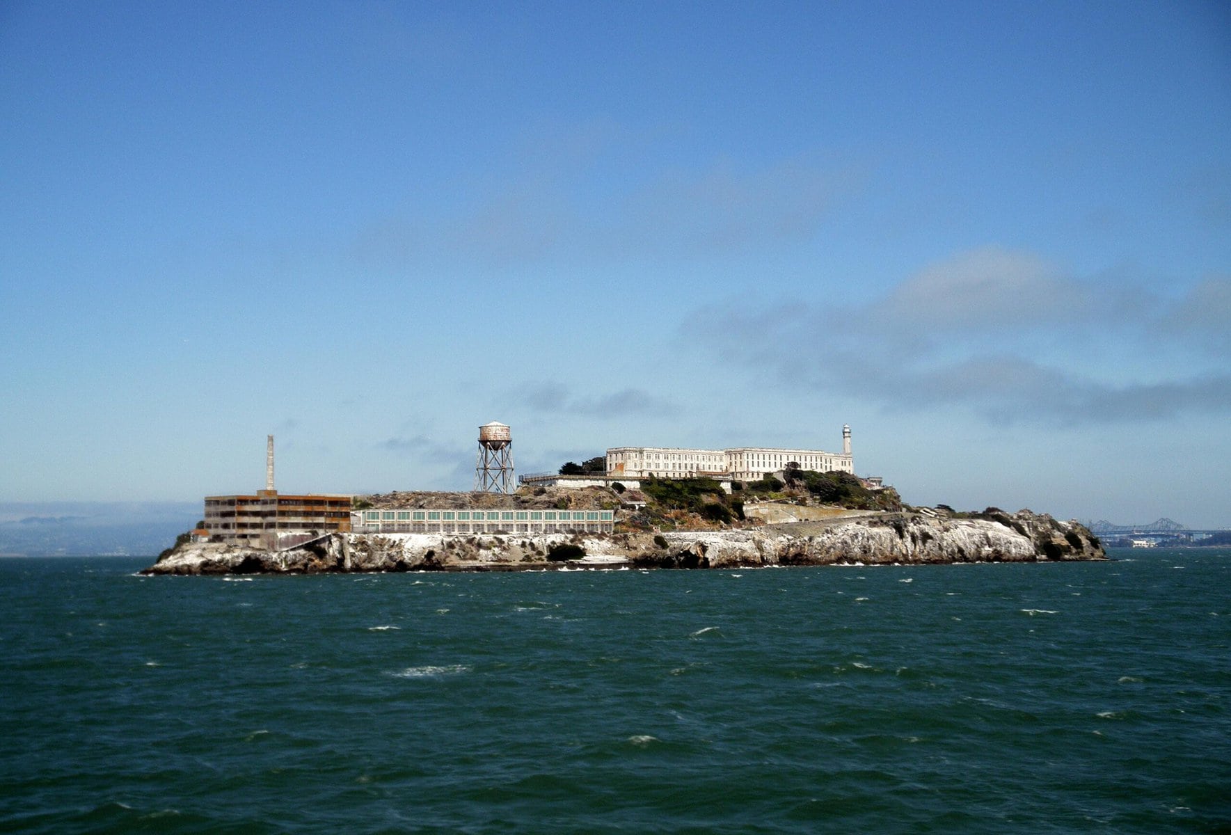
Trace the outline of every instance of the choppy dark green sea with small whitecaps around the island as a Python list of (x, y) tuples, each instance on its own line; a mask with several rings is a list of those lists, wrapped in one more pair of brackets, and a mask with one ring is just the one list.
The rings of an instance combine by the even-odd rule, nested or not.
[(1231, 551), (1113, 555), (0, 560), (0, 830), (1231, 833)]

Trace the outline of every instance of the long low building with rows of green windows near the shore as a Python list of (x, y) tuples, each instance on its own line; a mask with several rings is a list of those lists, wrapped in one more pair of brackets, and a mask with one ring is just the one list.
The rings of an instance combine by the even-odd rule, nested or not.
[(355, 533), (611, 533), (613, 510), (361, 510)]

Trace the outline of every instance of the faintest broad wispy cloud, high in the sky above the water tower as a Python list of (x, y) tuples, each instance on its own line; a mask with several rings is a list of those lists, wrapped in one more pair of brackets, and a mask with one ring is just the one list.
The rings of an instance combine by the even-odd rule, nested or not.
[[(469, 186), (452, 211), (375, 223), (357, 235), (355, 252), (403, 267), (724, 255), (816, 234), (868, 179), (864, 163), (821, 154), (655, 167), (646, 147), (661, 142), (608, 123), (527, 142), (507, 166), (515, 174)], [(558, 153), (544, 154), (544, 144)]]

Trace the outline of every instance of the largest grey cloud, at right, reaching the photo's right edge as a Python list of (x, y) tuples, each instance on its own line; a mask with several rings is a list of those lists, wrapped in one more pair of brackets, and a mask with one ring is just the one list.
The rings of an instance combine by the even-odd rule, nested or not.
[[(1082, 282), (1028, 252), (981, 249), (863, 305), (731, 305), (713, 315), (724, 319), (715, 347), (729, 361), (888, 409), (958, 405), (995, 422), (1065, 425), (1231, 411), (1222, 277), (1168, 299)], [(1162, 362), (1160, 352), (1189, 362)]]

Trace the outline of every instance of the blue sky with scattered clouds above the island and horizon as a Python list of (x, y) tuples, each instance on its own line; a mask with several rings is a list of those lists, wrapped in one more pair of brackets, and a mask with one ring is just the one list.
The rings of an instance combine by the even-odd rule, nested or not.
[(1231, 7), (0, 5), (0, 501), (854, 432), (1231, 526)]

